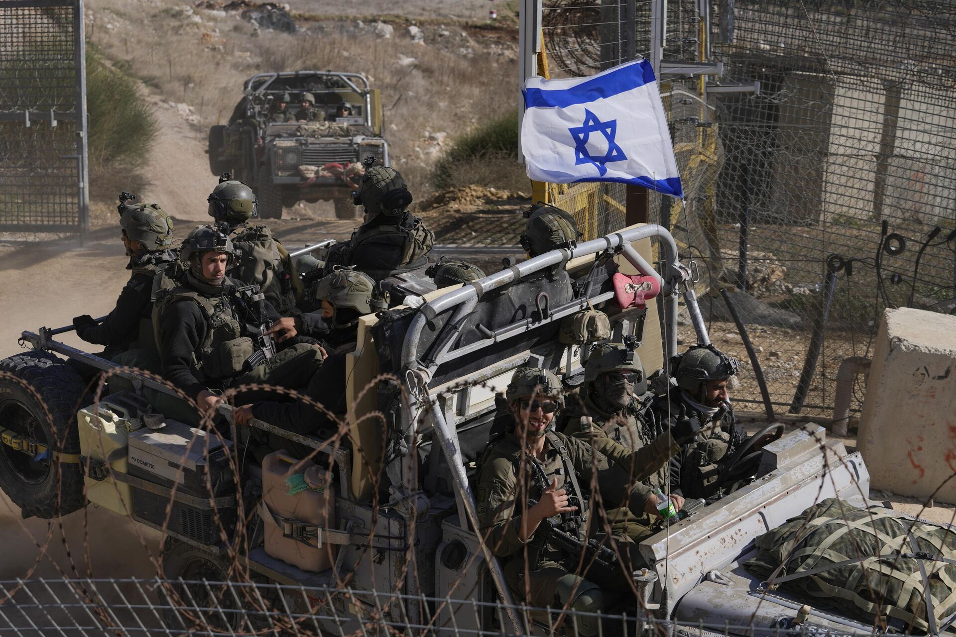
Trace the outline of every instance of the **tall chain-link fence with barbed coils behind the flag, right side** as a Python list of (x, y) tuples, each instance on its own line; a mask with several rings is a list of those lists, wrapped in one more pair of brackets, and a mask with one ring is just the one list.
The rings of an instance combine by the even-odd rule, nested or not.
[[(652, 194), (649, 221), (693, 260), (711, 338), (744, 362), (745, 409), (763, 401), (721, 288), (777, 413), (832, 414), (841, 374), (858, 411), (882, 309), (956, 306), (952, 5), (550, 0), (542, 26), (556, 76), (660, 43), (686, 199)], [(675, 72), (717, 62), (719, 77)], [(622, 186), (597, 207), (580, 190), (557, 201), (592, 210), (589, 229), (622, 220)]]

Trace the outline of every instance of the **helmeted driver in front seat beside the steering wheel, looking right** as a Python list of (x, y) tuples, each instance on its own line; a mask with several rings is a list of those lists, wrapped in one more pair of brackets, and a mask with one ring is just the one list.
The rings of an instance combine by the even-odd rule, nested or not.
[(728, 383), (737, 373), (736, 358), (713, 345), (695, 345), (674, 356), (670, 373), (676, 386), (658, 396), (652, 405), (661, 427), (692, 421), (701, 430), (701, 440), (687, 444), (671, 461), (671, 488), (684, 498), (710, 498), (717, 483), (720, 461), (730, 457), (742, 438), (730, 406)]

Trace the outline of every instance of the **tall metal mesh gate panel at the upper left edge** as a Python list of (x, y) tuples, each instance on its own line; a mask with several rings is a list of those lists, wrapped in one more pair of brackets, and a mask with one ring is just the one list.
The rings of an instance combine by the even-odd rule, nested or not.
[(83, 0), (0, 0), (0, 232), (89, 220)]

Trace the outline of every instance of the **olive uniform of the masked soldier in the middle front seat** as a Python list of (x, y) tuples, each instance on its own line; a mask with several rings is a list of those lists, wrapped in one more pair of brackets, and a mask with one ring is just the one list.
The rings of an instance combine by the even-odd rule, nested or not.
[[(645, 397), (648, 404), (650, 398)], [(668, 458), (681, 453), (683, 447), (672, 437), (664, 435), (666, 429), (655, 427), (652, 417), (637, 396), (622, 412), (613, 414), (597, 407), (592, 397), (584, 392), (568, 398), (568, 407), (555, 419), (555, 428), (590, 443), (605, 456), (619, 457), (633, 452), (632, 475), (652, 490), (666, 491)], [(627, 507), (621, 507), (608, 511), (608, 521), (615, 533), (640, 542), (651, 535), (654, 520), (646, 513), (635, 515)]]

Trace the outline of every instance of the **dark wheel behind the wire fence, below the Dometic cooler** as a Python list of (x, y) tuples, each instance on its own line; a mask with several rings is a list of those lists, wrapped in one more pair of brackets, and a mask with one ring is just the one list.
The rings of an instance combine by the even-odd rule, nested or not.
[[(163, 624), (170, 630), (204, 630), (204, 623), (225, 632), (242, 627), (236, 596), (243, 600), (243, 591), (238, 589), (233, 596), (227, 590), (228, 565), (219, 556), (167, 537), (163, 541), (163, 579), (170, 580), (161, 592), (167, 606)], [(204, 580), (208, 584), (202, 584)]]

